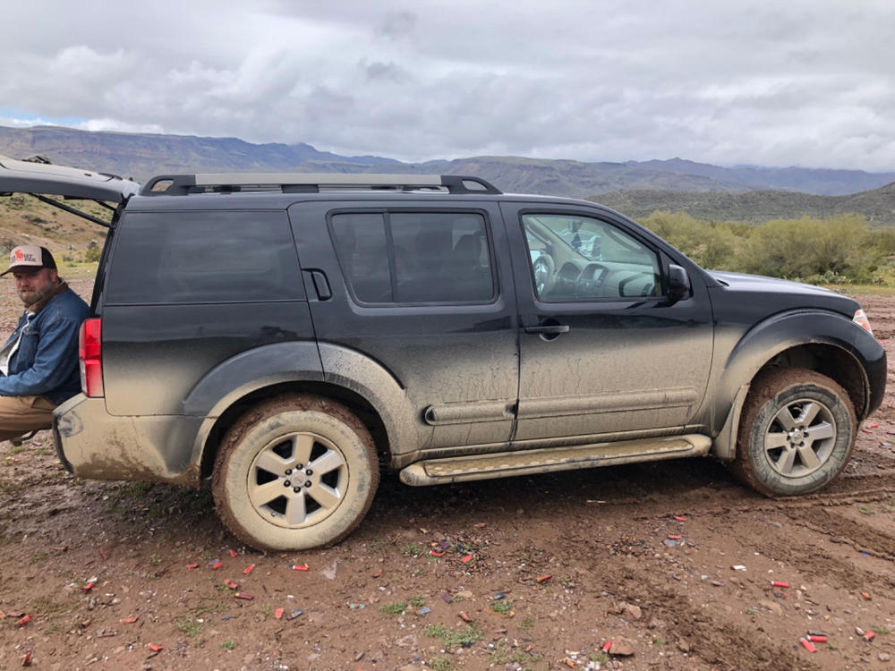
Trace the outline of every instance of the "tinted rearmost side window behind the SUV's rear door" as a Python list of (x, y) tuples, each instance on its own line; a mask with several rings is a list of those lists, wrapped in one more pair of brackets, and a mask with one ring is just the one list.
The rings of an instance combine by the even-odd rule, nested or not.
[(285, 212), (131, 213), (115, 237), (107, 303), (304, 297)]

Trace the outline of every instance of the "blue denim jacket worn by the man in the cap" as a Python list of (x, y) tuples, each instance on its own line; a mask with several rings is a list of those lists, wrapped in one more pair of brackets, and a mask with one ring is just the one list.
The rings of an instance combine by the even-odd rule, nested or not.
[(63, 403), (81, 391), (78, 330), (90, 315), (81, 297), (64, 285), (29, 318), (26, 310), (7, 344), (19, 337), (9, 360), (9, 375), (0, 374), (0, 396), (46, 396)]

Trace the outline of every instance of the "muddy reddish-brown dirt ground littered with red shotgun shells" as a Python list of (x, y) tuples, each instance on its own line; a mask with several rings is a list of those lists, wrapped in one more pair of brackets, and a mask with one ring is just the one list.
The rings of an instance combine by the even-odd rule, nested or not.
[[(895, 299), (859, 299), (895, 361)], [(288, 554), (238, 545), (207, 489), (76, 480), (47, 431), (4, 443), (0, 669), (893, 668), (893, 393), (890, 372), (813, 496), (761, 497), (710, 459), (387, 476), (348, 539)]]

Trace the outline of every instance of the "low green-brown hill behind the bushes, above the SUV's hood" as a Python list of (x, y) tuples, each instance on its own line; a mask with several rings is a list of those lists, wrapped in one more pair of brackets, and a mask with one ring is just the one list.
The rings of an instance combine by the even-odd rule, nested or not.
[(816, 196), (794, 191), (747, 191), (746, 193), (684, 191), (615, 191), (592, 200), (628, 217), (648, 217), (656, 210), (686, 212), (709, 221), (745, 221), (758, 224), (769, 219), (834, 217), (853, 212), (871, 225), (895, 225), (895, 183), (846, 196)]

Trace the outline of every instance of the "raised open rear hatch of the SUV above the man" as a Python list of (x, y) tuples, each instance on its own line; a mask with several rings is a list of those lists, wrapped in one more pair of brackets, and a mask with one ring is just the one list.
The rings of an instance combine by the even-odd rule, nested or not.
[(93, 200), (115, 210), (107, 203), (112, 202), (118, 206), (138, 191), (140, 184), (115, 174), (54, 166), (45, 162), (45, 159), (16, 161), (0, 156), (0, 195), (27, 193), (95, 224), (108, 226), (107, 222), (87, 212), (47, 196), (62, 196), (65, 200)]

